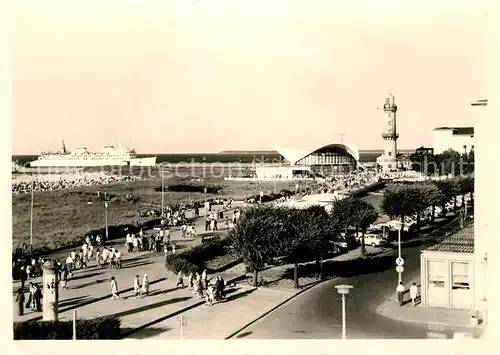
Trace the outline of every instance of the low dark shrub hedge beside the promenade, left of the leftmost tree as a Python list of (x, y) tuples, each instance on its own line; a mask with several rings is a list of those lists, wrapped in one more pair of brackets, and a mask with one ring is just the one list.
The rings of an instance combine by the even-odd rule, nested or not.
[(165, 267), (174, 273), (181, 270), (184, 274), (202, 272), (205, 269), (205, 262), (227, 254), (230, 244), (229, 238), (218, 239), (197, 245), (184, 253), (167, 255)]

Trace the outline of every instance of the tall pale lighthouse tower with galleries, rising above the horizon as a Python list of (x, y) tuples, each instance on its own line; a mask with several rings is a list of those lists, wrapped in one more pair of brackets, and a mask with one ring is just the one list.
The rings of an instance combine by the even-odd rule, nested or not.
[(399, 134), (396, 131), (396, 111), (398, 106), (394, 102), (394, 96), (389, 93), (385, 99), (384, 115), (387, 119), (387, 130), (382, 133), (384, 139), (384, 155), (380, 159), (380, 165), (384, 171), (397, 170), (397, 140)]

